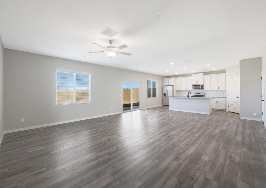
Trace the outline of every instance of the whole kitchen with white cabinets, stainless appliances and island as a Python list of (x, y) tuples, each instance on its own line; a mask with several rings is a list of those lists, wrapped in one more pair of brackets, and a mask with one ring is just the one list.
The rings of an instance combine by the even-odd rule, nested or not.
[(163, 105), (169, 110), (208, 115), (212, 110), (226, 111), (226, 73), (210, 73), (164, 78)]

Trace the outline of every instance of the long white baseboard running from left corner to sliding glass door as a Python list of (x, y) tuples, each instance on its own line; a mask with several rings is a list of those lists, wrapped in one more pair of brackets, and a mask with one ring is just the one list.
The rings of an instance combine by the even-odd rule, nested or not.
[(55, 123), (48, 123), (48, 124), (44, 124), (44, 125), (36, 125), (36, 126), (31, 126), (31, 127), (24, 127), (24, 128), (6, 130), (6, 131), (4, 131), (3, 134), (6, 134), (6, 133), (14, 133), (14, 132), (18, 132), (18, 131), (25, 131), (25, 130), (34, 129), (34, 128), (49, 127), (49, 126), (53, 126), (53, 125), (59, 125), (59, 124), (63, 124), (63, 123), (76, 122), (76, 121), (81, 121), (81, 120), (86, 120), (86, 119), (92, 119), (92, 118), (100, 118), (100, 117), (110, 116), (110, 115), (115, 115), (115, 114), (120, 114), (120, 113), (122, 113), (122, 112), (114, 112), (114, 113), (109, 113), (109, 114), (104, 114), (104, 115), (99, 115), (99, 116), (91, 116), (91, 117), (87, 117), (87, 118), (72, 119), (72, 120), (67, 120), (67, 121), (61, 121), (61, 122), (55, 122)]

